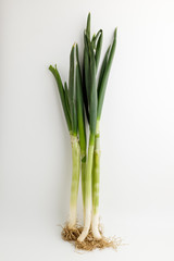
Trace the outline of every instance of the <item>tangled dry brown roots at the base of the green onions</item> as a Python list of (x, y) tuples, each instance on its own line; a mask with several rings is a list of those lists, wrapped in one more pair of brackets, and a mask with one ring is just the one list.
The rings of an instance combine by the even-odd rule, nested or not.
[(87, 237), (83, 243), (77, 240), (80, 235), (83, 227), (76, 226), (73, 229), (70, 229), (67, 225), (65, 225), (62, 229), (62, 238), (65, 241), (72, 243), (76, 249), (92, 251), (95, 249), (104, 249), (104, 248), (113, 248), (117, 250), (117, 247), (122, 245), (121, 238), (116, 237), (104, 237), (103, 232), (100, 229), (101, 239), (95, 239), (91, 229), (89, 231)]

